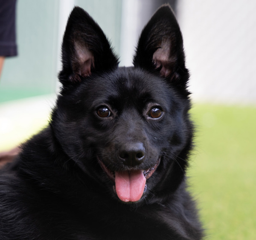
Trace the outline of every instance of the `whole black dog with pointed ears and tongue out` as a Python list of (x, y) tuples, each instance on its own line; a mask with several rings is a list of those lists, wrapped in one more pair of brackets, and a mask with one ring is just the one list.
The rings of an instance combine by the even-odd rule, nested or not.
[(169, 6), (143, 29), (128, 68), (76, 7), (62, 63), (49, 127), (0, 173), (0, 239), (201, 239), (186, 191), (189, 74)]

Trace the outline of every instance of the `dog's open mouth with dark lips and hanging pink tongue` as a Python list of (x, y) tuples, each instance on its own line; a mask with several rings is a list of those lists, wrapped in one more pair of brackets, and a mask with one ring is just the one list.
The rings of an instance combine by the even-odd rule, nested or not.
[(110, 180), (114, 183), (114, 191), (123, 202), (137, 202), (147, 189), (146, 180), (152, 176), (160, 163), (157, 163), (146, 170), (111, 171), (99, 160), (99, 164)]

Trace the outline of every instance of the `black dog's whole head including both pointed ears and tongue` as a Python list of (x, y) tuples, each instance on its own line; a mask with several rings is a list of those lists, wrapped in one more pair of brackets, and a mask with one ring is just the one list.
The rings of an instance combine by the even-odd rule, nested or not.
[[(183, 180), (192, 145), (183, 40), (168, 5), (143, 29), (134, 67), (118, 59), (81, 8), (62, 45), (55, 138), (104, 194), (122, 202), (164, 199)], [(158, 198), (159, 197), (159, 198)]]

